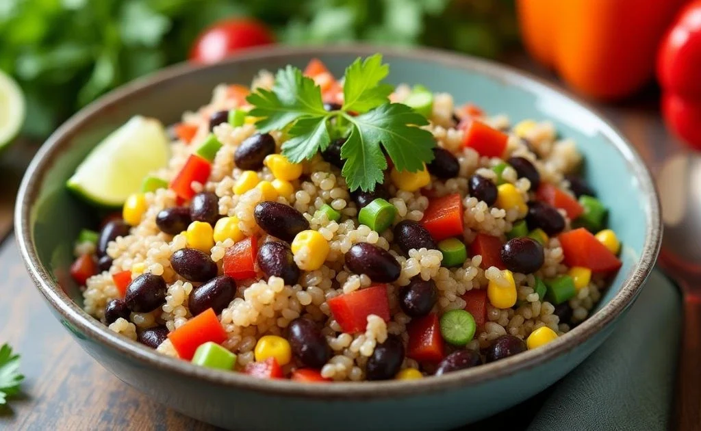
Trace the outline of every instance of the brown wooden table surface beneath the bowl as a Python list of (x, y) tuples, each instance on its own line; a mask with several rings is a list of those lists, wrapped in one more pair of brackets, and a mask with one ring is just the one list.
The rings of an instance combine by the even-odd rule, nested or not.
[[(524, 63), (522, 57), (515, 62)], [(536, 73), (552, 76), (543, 70)], [(629, 137), (646, 163), (657, 170), (670, 153), (679, 150), (660, 120), (655, 90), (635, 100), (600, 107)], [(22, 172), (36, 147), (18, 145), (0, 160), (0, 344), (22, 354), (22, 395), (10, 409), (0, 409), (0, 429), (13, 430), (213, 430), (214, 427), (165, 408), (130, 388), (89, 357), (50, 315), (29, 280), (10, 233), (14, 196)], [(543, 395), (489, 418), (468, 430), (526, 427)]]

